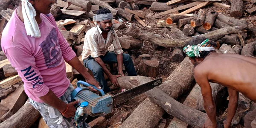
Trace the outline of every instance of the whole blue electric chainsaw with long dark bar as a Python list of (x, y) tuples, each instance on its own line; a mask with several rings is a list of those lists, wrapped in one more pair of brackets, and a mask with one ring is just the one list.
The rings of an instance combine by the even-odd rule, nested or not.
[[(118, 105), (122, 102), (125, 102), (134, 96), (138, 96), (141, 93), (145, 93), (148, 90), (153, 89), (154, 87), (160, 85), (162, 83), (162, 79), (155, 79), (153, 81), (149, 81), (145, 84), (141, 84), (137, 87), (128, 89), (123, 91), (122, 93), (111, 96), (109, 94), (105, 95), (102, 89), (98, 89), (97, 87), (88, 84), (84, 81), (77, 82), (77, 88), (73, 90), (71, 93), (71, 100), (76, 101), (79, 100), (79, 105), (76, 108), (82, 108), (83, 112), (90, 116), (97, 116), (101, 113), (108, 114), (112, 112), (112, 108), (114, 105)], [(80, 86), (80, 84), (86, 86)], [(99, 90), (102, 96), (93, 93), (87, 87), (92, 86), (96, 90)]]

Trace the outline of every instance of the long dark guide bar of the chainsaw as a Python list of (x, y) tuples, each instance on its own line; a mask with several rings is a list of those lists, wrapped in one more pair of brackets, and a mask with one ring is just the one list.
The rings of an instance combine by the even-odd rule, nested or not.
[(118, 105), (122, 102), (125, 102), (135, 96), (140, 95), (141, 93), (145, 93), (148, 90), (153, 89), (154, 87), (158, 86), (162, 84), (162, 79), (155, 79), (153, 81), (147, 82), (145, 84), (141, 84), (137, 87), (128, 89), (122, 93), (116, 94), (115, 96), (113, 96), (113, 104), (112, 105)]

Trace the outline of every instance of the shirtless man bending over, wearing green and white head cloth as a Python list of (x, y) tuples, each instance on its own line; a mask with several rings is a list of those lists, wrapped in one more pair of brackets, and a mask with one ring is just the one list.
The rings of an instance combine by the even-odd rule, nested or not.
[[(209, 39), (198, 37), (191, 40), (183, 51), (195, 65), (194, 77), (204, 98), (208, 119), (203, 128), (216, 128), (216, 107), (209, 82), (228, 87), (229, 105), (224, 128), (231, 128), (238, 105), (238, 92), (256, 102), (256, 59), (237, 54), (218, 54), (215, 45)], [(255, 117), (256, 109), (247, 113), (244, 117), (245, 128), (256, 128)]]

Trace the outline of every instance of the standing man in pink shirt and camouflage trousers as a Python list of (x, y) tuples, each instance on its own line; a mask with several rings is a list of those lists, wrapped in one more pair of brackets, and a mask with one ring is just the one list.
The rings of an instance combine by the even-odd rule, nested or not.
[[(50, 9), (54, 0), (21, 0), (3, 30), (1, 46), (24, 82), (30, 103), (50, 128), (76, 128), (78, 101), (71, 102), (74, 90), (66, 76), (64, 60), (89, 84), (98, 88), (75, 52), (59, 31)], [(21, 3), (21, 4), (20, 4)], [(64, 116), (64, 117), (63, 117)]]

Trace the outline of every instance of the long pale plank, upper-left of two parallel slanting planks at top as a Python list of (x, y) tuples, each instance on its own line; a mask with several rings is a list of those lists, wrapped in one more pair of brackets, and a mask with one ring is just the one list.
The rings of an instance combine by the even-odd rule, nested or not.
[(160, 15), (166, 15), (166, 14), (169, 14), (169, 13), (172, 13), (172, 12), (175, 12), (175, 11), (180, 11), (180, 10), (183, 10), (183, 9), (187, 9), (187, 8), (190, 8), (190, 7), (193, 7), (193, 6), (197, 6), (198, 4), (201, 4), (201, 3), (204, 3), (204, 2), (203, 1), (196, 1), (196, 2), (193, 2), (193, 3), (189, 3), (189, 4), (186, 4), (186, 5), (174, 8), (174, 9), (170, 9), (170, 10), (165, 11), (165, 12), (158, 13), (157, 15), (154, 15), (153, 17), (158, 17)]

